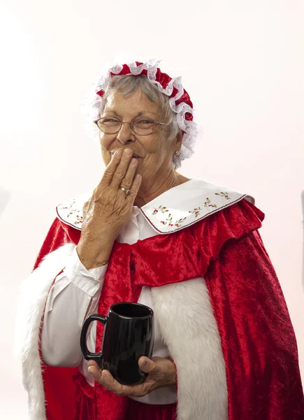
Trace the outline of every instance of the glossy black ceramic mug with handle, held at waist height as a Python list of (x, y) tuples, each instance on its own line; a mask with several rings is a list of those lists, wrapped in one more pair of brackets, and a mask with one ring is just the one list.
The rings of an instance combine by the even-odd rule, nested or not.
[[(105, 325), (101, 353), (87, 349), (87, 330), (93, 321)], [(153, 311), (144, 304), (121, 302), (113, 304), (108, 316), (94, 314), (82, 326), (80, 346), (86, 360), (96, 360), (122, 385), (136, 385), (147, 374), (138, 367), (141, 356), (151, 358), (154, 344)]]

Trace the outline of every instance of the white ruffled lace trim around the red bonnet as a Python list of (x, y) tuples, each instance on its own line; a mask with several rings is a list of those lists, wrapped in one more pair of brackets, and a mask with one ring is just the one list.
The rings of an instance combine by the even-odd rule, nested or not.
[[(173, 112), (176, 113), (176, 120), (178, 122), (178, 127), (180, 127), (180, 130), (184, 132), (184, 135), (182, 137), (182, 147), (180, 149), (180, 156), (173, 155), (173, 164), (175, 165), (175, 168), (180, 167), (182, 160), (190, 158), (191, 155), (194, 154), (194, 144), (195, 139), (198, 136), (198, 126), (196, 123), (194, 123), (191, 120), (187, 120), (185, 117), (186, 113), (193, 114), (193, 109), (191, 106), (186, 104), (185, 102), (181, 102), (180, 104), (176, 104), (178, 99), (182, 97), (184, 94), (184, 88), (182, 87), (182, 78), (175, 77), (172, 78), (168, 85), (166, 87), (163, 87), (161, 83), (159, 83), (156, 80), (157, 77), (157, 68), (161, 60), (151, 59), (146, 63), (137, 65), (136, 62), (130, 62), (127, 64), (130, 69), (130, 74), (133, 74), (134, 76), (140, 75), (140, 73), (143, 72), (143, 70), (147, 71), (147, 78), (150, 80), (151, 83), (154, 83), (154, 85), (157, 85), (160, 92), (166, 94), (167, 96), (171, 96), (173, 93), (173, 89), (175, 88), (177, 93), (174, 97), (171, 97), (169, 99), (169, 104), (171, 106), (171, 109)], [(112, 68), (108, 69), (103, 76), (99, 79), (97, 85), (94, 85), (94, 100), (89, 102), (89, 107), (87, 109), (87, 116), (90, 119), (90, 123), (92, 124), (93, 120), (96, 120), (99, 117), (99, 109), (101, 108), (101, 96), (97, 94), (97, 92), (100, 92), (103, 90), (103, 92), (106, 91), (106, 87), (108, 86), (108, 83), (110, 82), (111, 73), (113, 74), (119, 74), (123, 69), (123, 66), (121, 64), (115, 64)], [(92, 94), (91, 94), (92, 95)], [(94, 132), (96, 133), (96, 132)]]

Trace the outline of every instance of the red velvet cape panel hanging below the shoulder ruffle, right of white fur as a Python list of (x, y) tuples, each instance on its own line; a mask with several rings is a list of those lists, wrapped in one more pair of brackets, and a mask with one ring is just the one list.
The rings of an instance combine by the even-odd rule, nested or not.
[(303, 420), (296, 337), (259, 232), (227, 241), (205, 281), (222, 339), (229, 419)]

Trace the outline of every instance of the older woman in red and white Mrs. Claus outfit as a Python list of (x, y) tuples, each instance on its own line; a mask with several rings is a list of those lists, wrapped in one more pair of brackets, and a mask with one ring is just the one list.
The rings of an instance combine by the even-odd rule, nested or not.
[[(196, 125), (180, 78), (158, 64), (115, 66), (99, 81), (106, 170), (93, 193), (57, 207), (22, 286), (29, 419), (304, 419), (263, 213), (252, 197), (176, 172)], [(124, 386), (82, 357), (80, 332), (89, 314), (130, 301), (154, 309), (155, 339), (138, 361), (147, 379)], [(88, 334), (96, 351), (99, 328)]]

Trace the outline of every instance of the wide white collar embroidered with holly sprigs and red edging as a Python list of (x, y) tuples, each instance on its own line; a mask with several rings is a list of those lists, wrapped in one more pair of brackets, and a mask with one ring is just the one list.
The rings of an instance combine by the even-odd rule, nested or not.
[[(91, 195), (92, 192), (85, 193), (59, 204), (58, 218), (66, 225), (81, 230), (82, 207)], [(249, 195), (201, 179), (191, 179), (154, 198), (140, 211), (154, 230), (166, 234), (187, 228), (243, 198), (254, 204), (254, 198)]]

